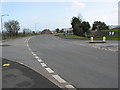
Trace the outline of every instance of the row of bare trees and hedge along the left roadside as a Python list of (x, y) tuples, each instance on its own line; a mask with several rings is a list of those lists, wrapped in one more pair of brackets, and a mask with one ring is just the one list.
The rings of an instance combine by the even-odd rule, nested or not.
[(19, 33), (20, 31), (20, 23), (17, 20), (10, 20), (8, 22), (4, 22), (5, 30), (2, 30), (2, 38), (6, 39), (9, 37), (21, 37), (21, 36), (28, 36), (32, 34), (36, 34), (32, 32), (28, 28), (24, 28), (23, 32)]

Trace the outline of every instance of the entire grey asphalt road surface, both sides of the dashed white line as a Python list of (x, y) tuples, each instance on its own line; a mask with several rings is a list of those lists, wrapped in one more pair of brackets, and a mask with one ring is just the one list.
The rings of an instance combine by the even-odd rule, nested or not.
[(53, 35), (28, 39), (5, 42), (2, 57), (24, 63), (59, 87), (118, 87), (118, 52), (89, 47), (89, 41), (63, 40)]

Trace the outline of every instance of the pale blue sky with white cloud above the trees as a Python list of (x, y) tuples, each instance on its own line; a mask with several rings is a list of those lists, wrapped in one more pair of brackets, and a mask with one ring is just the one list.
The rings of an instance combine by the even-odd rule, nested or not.
[(107, 25), (118, 24), (118, 0), (37, 1), (8, 2), (5, 0), (2, 2), (2, 14), (9, 14), (9, 16), (4, 16), (3, 21), (18, 20), (21, 30), (23, 28), (35, 30), (36, 26), (37, 31), (47, 28), (50, 30), (69, 28), (71, 18), (78, 15), (81, 15), (83, 20), (89, 21), (91, 25), (98, 20)]

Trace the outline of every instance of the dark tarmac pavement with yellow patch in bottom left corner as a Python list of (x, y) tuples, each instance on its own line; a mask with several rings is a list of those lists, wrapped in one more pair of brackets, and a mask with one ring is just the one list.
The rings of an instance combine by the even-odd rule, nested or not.
[(53, 88), (60, 90), (58, 86), (34, 70), (22, 63), (7, 59), (2, 59), (2, 78), (3, 90), (5, 88)]

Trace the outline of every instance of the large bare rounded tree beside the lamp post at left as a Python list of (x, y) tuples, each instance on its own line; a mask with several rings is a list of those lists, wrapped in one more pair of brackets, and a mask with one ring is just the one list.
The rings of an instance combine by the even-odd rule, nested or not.
[(4, 23), (4, 27), (6, 28), (9, 36), (17, 36), (18, 31), (20, 30), (19, 22), (15, 20), (11, 20)]

